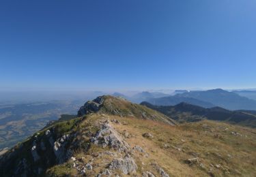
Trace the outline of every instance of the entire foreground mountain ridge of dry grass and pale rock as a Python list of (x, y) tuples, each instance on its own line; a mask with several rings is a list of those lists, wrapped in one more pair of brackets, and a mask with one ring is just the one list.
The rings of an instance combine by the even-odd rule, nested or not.
[(0, 176), (254, 176), (255, 138), (248, 127), (178, 124), (104, 95), (1, 155)]

